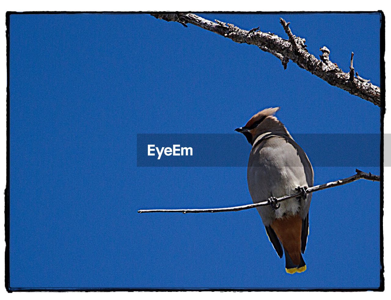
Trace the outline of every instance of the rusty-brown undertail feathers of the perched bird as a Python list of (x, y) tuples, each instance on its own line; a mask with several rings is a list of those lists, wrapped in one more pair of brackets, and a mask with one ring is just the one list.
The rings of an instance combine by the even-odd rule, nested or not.
[(301, 223), (302, 219), (298, 214), (295, 216), (285, 216), (280, 219), (275, 219), (271, 223), (271, 227), (282, 246), (288, 252), (294, 264), (300, 264), (301, 257)]

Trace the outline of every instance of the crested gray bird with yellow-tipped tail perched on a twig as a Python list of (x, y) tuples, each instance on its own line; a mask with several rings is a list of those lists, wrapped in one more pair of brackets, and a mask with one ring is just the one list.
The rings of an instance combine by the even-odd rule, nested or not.
[[(252, 145), (247, 167), (251, 198), (254, 203), (268, 200), (271, 204), (256, 209), (277, 255), (285, 254), (285, 271), (294, 274), (307, 270), (302, 254), (312, 194), (306, 189), (314, 184), (314, 170), (303, 149), (274, 116), (279, 109), (264, 109), (235, 131)], [(298, 192), (299, 197), (277, 203), (276, 198)]]

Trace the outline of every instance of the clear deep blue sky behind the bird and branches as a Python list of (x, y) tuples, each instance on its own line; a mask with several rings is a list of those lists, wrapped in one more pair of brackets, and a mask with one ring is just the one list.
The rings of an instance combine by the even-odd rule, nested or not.
[[(326, 46), (348, 71), (353, 51), (380, 84), (379, 14), (202, 16), (285, 37), (283, 17), (310, 53)], [(378, 134), (379, 107), (255, 46), (149, 15), (11, 15), (10, 49), (11, 287), (379, 286), (379, 183), (313, 195), (307, 271), (289, 275), (254, 209), (137, 213), (251, 203), (246, 167), (136, 164), (140, 133), (231, 134), (280, 106), (293, 137)], [(380, 172), (315, 167), (315, 184), (355, 167)]]

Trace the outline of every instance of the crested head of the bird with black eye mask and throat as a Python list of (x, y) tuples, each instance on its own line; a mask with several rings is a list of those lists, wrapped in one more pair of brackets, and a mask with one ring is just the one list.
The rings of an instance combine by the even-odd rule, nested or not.
[(283, 123), (274, 116), (279, 109), (280, 107), (264, 109), (252, 116), (246, 125), (235, 129), (235, 131), (244, 134), (251, 145), (253, 145), (258, 136), (265, 133), (289, 135)]

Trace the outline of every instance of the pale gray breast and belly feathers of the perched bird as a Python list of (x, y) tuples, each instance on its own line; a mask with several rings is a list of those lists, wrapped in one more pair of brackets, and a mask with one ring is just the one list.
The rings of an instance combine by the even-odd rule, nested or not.
[[(270, 197), (282, 197), (292, 193), (298, 186), (313, 186), (312, 166), (305, 152), (291, 136), (269, 135), (253, 145), (250, 153), (247, 181), (254, 203)], [(265, 226), (284, 214), (300, 213), (307, 216), (311, 194), (307, 199), (290, 199), (280, 202), (281, 206), (273, 210), (269, 205), (257, 207)]]

